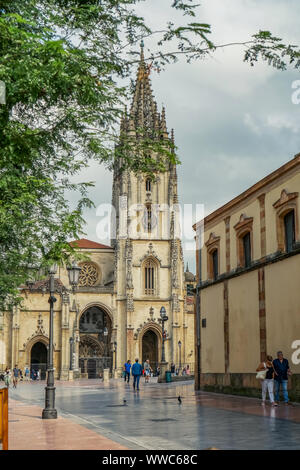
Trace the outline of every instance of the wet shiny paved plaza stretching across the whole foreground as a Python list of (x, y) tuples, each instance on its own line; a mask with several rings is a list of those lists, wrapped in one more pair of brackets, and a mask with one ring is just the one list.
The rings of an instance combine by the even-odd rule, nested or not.
[(193, 382), (143, 382), (134, 392), (121, 379), (58, 381), (57, 421), (41, 419), (45, 383), (20, 383), (10, 389), (10, 448), (300, 448), (299, 405), (271, 408), (254, 398), (195, 392)]

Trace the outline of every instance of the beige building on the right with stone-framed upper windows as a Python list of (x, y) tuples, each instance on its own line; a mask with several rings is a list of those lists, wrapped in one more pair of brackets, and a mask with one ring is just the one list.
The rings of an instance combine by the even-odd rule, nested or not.
[(299, 190), (300, 154), (194, 226), (196, 388), (257, 394), (258, 363), (282, 350), (300, 399)]

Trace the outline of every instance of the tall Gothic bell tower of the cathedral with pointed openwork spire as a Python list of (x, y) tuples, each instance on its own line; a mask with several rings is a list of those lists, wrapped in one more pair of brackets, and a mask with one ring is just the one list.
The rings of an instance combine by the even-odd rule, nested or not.
[[(143, 47), (130, 112), (121, 122), (121, 136), (134, 141), (143, 129), (147, 137), (166, 145), (174, 140), (167, 131), (165, 109), (161, 114), (153, 99)], [(121, 141), (121, 137), (120, 137)], [(159, 158), (152, 154), (152, 158)], [(115, 300), (117, 366), (126, 359), (161, 360), (160, 309), (165, 307), (166, 361), (193, 363), (193, 321), (186, 312), (183, 254), (176, 234), (178, 203), (176, 165), (154, 179), (120, 171), (116, 161), (112, 204), (116, 210)], [(175, 205), (175, 206), (174, 206)], [(171, 208), (171, 211), (169, 210)], [(175, 214), (175, 215), (174, 215)], [(188, 318), (189, 317), (189, 318)]]

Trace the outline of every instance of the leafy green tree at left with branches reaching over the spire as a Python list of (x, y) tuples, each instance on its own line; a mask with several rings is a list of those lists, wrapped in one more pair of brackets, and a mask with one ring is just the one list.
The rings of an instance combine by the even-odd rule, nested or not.
[[(172, 144), (147, 139), (117, 147), (118, 122), (128, 99), (122, 80), (136, 68), (136, 45), (155, 34), (149, 56), (163, 67), (184, 55), (204, 58), (217, 47), (210, 25), (194, 21), (193, 0), (172, 0), (185, 24), (169, 22), (152, 31), (134, 7), (140, 0), (0, 0), (0, 307), (18, 301), (17, 287), (32, 269), (74, 255), (68, 240), (82, 230), (82, 211), (91, 206), (92, 183), (70, 177), (91, 159), (153, 174), (177, 162)], [(190, 21), (192, 19), (192, 21)], [(184, 22), (184, 18), (183, 18)], [(169, 44), (174, 51), (166, 51)], [(299, 52), (262, 32), (246, 43), (245, 60), (259, 56), (284, 68), (284, 57), (299, 66)], [(158, 152), (162, 158), (143, 158)], [(78, 191), (75, 210), (65, 193)]]

